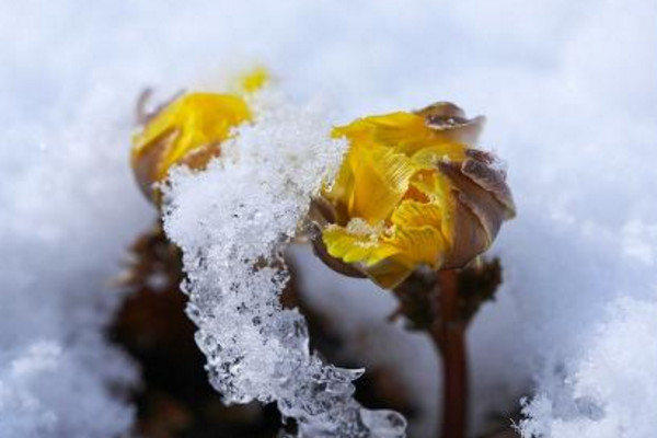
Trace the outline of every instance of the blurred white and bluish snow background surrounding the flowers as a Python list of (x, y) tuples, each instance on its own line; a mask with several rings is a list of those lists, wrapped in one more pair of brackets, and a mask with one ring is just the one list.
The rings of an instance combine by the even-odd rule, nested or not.
[[(135, 97), (253, 64), (335, 123), (437, 100), (485, 114), (519, 215), (494, 249), (498, 300), (470, 333), (474, 424), (529, 395), (526, 437), (654, 437), (655, 23), (653, 0), (2, 1), (0, 437), (130, 429), (138, 370), (103, 327), (154, 215), (128, 168)], [(390, 297), (300, 258), (313, 302), (367, 332), (354, 348), (426, 394), (411, 433), (431, 436), (429, 343), (381, 321)]]

